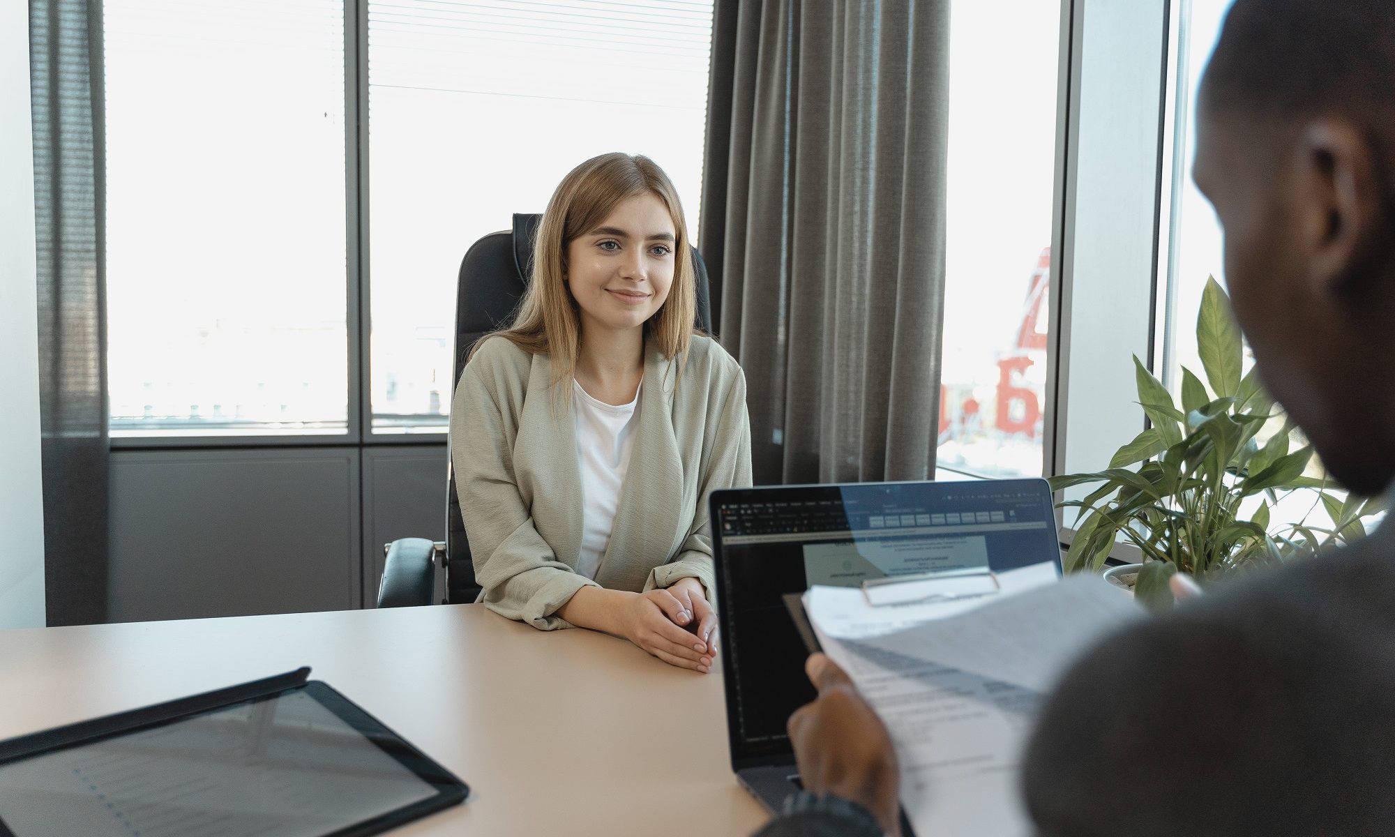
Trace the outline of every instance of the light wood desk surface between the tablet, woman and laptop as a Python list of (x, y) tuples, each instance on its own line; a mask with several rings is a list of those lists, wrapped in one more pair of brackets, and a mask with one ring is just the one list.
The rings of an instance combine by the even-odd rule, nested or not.
[(0, 738), (311, 665), (470, 785), (393, 831), (745, 836), (721, 668), (481, 605), (0, 631)]

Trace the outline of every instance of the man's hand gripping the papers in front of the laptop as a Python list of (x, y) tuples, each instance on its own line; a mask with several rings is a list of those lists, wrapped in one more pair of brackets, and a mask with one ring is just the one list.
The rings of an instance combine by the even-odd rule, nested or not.
[(804, 670), (819, 689), (813, 703), (790, 716), (804, 788), (862, 805), (883, 831), (898, 837), (901, 770), (882, 718), (833, 660), (812, 654)]

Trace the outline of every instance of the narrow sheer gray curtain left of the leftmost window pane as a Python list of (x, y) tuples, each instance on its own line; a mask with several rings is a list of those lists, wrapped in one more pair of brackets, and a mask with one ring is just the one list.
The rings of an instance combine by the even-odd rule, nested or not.
[(106, 618), (102, 4), (29, 1), (49, 625)]

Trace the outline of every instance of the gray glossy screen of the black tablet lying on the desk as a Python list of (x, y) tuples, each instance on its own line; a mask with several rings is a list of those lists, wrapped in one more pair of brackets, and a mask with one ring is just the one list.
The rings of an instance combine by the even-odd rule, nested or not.
[(293, 689), (0, 764), (0, 834), (322, 837), (437, 794)]

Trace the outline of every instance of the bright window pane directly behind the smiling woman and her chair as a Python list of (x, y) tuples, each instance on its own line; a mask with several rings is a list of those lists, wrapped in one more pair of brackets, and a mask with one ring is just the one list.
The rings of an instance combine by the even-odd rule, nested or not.
[(368, 3), (375, 432), (442, 431), (456, 271), (576, 163), (644, 153), (696, 240), (711, 3)]

